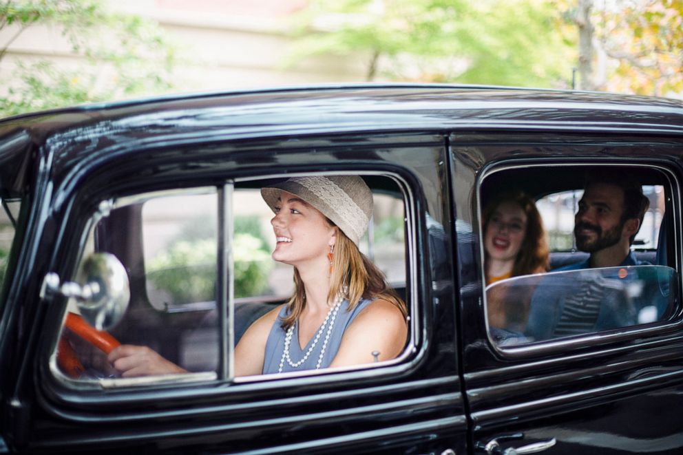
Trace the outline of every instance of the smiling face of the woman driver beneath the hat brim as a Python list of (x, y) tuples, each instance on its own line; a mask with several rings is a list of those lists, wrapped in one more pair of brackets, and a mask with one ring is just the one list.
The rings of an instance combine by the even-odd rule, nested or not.
[(327, 253), (335, 243), (336, 231), (311, 204), (282, 191), (271, 224), (277, 241), (273, 260), (297, 268), (313, 264), (328, 269)]

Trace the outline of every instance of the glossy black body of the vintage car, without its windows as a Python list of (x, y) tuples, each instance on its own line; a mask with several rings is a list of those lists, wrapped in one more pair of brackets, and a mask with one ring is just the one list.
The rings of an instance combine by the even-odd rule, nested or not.
[[(524, 440), (507, 445), (556, 437), (548, 453), (628, 452), (609, 442), (616, 435), (653, 453), (680, 451), (680, 314), (640, 334), (499, 352), (483, 318), (477, 207), (491, 167), (642, 162), (681, 179), (682, 154), (679, 101), (526, 89), (281, 89), (3, 120), (0, 186), (25, 202), (0, 301), (0, 452), (472, 454), (519, 431)], [(335, 170), (393, 173), (414, 195), (421, 325), (406, 363), (380, 374), (105, 393), (67, 388), (46, 370), (63, 302), (41, 301), (41, 282), (49, 271), (72, 274), (99, 201)], [(627, 423), (655, 411), (668, 424)]]

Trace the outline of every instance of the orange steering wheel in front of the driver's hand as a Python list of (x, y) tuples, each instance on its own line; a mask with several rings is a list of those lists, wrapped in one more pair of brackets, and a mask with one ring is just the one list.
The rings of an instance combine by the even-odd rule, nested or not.
[[(112, 335), (102, 330), (97, 330), (85, 322), (81, 316), (76, 315), (76, 313), (67, 313), (64, 326), (107, 355), (121, 344)], [(74, 351), (69, 341), (63, 336), (59, 339), (57, 364), (63, 372), (72, 378), (80, 377), (85, 372), (85, 368), (83, 368), (81, 360), (78, 359), (76, 351)]]

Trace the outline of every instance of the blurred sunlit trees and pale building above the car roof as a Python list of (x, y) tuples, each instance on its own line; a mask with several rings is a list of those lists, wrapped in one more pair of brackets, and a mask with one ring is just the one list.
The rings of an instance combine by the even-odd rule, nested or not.
[(683, 97), (683, 0), (2, 0), (0, 116), (401, 81)]

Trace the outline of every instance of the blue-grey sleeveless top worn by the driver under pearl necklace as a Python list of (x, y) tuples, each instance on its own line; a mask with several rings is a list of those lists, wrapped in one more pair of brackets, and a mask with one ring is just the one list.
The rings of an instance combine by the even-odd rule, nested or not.
[[(349, 324), (351, 324), (351, 322), (353, 322), (353, 319), (355, 319), (355, 317), (371, 302), (372, 299), (363, 299), (358, 302), (353, 311), (349, 311), (348, 301), (342, 301), (341, 306), (339, 306), (337, 317), (335, 318), (332, 332), (330, 333), (330, 338), (327, 341), (327, 346), (322, 357), (322, 362), (320, 363), (320, 368), (328, 368), (328, 366), (330, 366), (330, 363), (332, 363), (333, 359), (337, 355), (339, 345), (342, 344), (342, 335), (344, 335), (344, 332), (346, 332), (346, 328), (349, 326)], [(273, 324), (273, 328), (271, 328), (271, 332), (268, 335), (268, 341), (266, 341), (263, 374), (277, 373), (280, 370), (280, 361), (282, 360), (282, 354), (284, 352), (284, 339), (286, 337), (286, 331), (282, 328), (282, 319), (286, 317), (286, 315), (288, 315), (287, 307), (282, 306), (282, 310), (280, 310), (280, 314), (275, 320), (275, 324)], [(320, 350), (322, 350), (322, 346), (327, 335), (327, 330), (328, 328), (326, 327), (320, 334), (315, 348), (313, 348), (311, 355), (308, 356), (308, 359), (306, 359), (304, 363), (297, 368), (294, 368), (290, 366), (288, 361), (285, 359), (282, 363), (282, 372), (286, 373), (291, 371), (315, 370), (320, 357)], [(308, 344), (306, 344), (304, 349), (302, 349), (299, 345), (299, 324), (294, 324), (292, 339), (289, 343), (289, 357), (293, 363), (297, 363), (304, 358), (304, 355), (306, 355), (311, 343), (313, 343), (315, 340), (316, 334), (317, 332), (313, 334), (311, 340), (308, 341)]]

